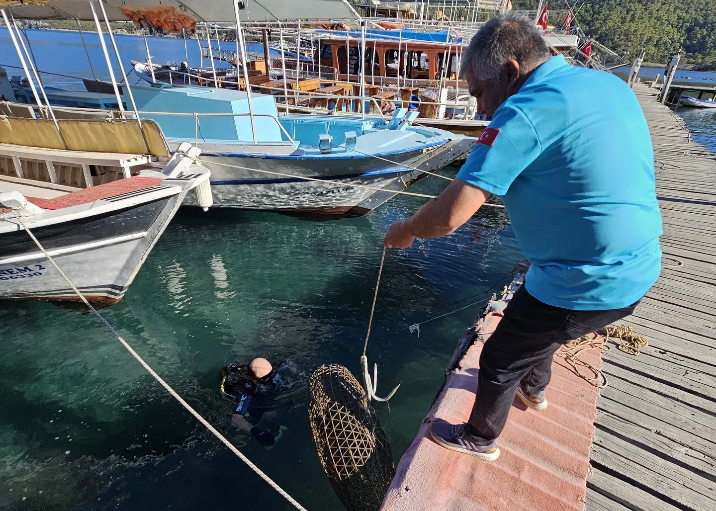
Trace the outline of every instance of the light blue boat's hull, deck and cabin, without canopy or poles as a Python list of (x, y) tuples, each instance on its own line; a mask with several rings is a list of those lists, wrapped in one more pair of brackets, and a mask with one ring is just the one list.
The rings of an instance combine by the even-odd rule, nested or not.
[[(273, 96), (251, 94), (249, 115), (246, 92), (236, 90), (154, 84), (134, 85), (132, 92), (140, 116), (158, 122), (170, 148), (181, 142), (200, 148), (215, 207), (363, 215), (425, 177), (423, 171), (463, 157), (477, 141), (413, 126), (417, 112), (406, 109), (390, 120), (279, 115)], [(21, 90), (16, 96), (31, 101)], [(47, 96), (58, 106), (109, 108), (114, 94)]]

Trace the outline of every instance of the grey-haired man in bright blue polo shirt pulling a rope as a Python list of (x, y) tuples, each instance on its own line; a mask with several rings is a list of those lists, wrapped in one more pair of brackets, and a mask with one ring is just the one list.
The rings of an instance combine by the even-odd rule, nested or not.
[(492, 117), (458, 179), (385, 234), (387, 248), (453, 233), (500, 195), (531, 261), (525, 286), (480, 356), (467, 424), (433, 424), (436, 442), (492, 461), (517, 395), (547, 407), (553, 354), (628, 316), (661, 270), (662, 218), (647, 122), (627, 84), (550, 57), (536, 26), (490, 19), (463, 75)]

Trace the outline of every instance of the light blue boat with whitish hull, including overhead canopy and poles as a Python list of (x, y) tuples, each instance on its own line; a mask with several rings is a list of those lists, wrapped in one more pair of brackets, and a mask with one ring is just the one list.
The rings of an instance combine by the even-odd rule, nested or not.
[[(125, 9), (99, 5), (109, 26), (109, 20), (127, 19), (132, 8), (145, 7), (144, 4), (130, 2)], [(242, 62), (248, 62), (241, 17), (248, 18), (249, 13), (240, 4), (243, 2), (197, 5), (194, 14), (213, 21), (224, 21), (228, 13), (233, 14), (238, 29), (236, 53), (242, 54)], [(284, 6), (280, 2), (271, 4), (276, 9)], [(321, 9), (321, 14), (334, 9), (342, 17), (354, 16), (342, 1), (312, 0), (309, 4)], [(175, 7), (181, 6), (178, 3)], [(291, 11), (295, 16), (297, 6), (290, 3), (286, 14)], [(150, 1), (146, 7), (162, 12), (166, 9), (163, 4)], [(39, 18), (53, 17), (56, 14), (53, 9), (62, 9), (63, 16), (94, 19), (98, 32), (102, 31), (91, 2), (49, 0), (41, 5), (21, 4), (9, 9), (16, 16)], [(146, 9), (142, 12), (147, 13)], [(260, 9), (253, 9), (250, 14), (252, 21), (274, 19), (269, 11), (262, 14)], [(126, 76), (111, 31), (110, 41)], [(163, 144), (175, 148), (190, 142), (200, 148), (202, 161), (213, 175), (211, 184), (219, 207), (362, 215), (425, 177), (427, 172), (435, 172), (465, 156), (477, 142), (474, 137), (414, 126), (412, 121), (417, 112), (405, 108), (397, 109), (390, 118), (369, 116), (365, 103), (370, 98), (361, 94), (352, 98), (360, 105), (354, 115), (279, 115), (276, 97), (252, 94), (252, 87), (241, 91), (183, 84), (130, 85), (128, 81), (117, 84), (104, 44), (102, 49), (112, 78), (105, 92), (101, 87), (97, 90), (88, 87), (85, 92), (44, 90), (41, 99), (34, 90), (20, 86), (13, 90), (16, 99), (34, 102), (39, 111), (43, 111), (45, 104), (52, 105), (48, 110), (50, 116), (57, 109), (68, 112), (68, 116), (102, 117), (102, 109), (110, 109), (112, 118), (155, 122)], [(18, 53), (22, 52), (18, 49)], [(147, 60), (151, 73), (155, 68), (150, 57)], [(32, 64), (32, 59), (29, 63)], [(245, 84), (251, 83), (247, 67), (241, 67), (240, 78)], [(167, 71), (172, 77), (173, 70)], [(25, 72), (29, 75), (27, 69)], [(32, 77), (28, 78), (32, 86)], [(326, 95), (324, 99), (330, 102), (332, 97)], [(92, 106), (95, 109), (86, 108)], [(55, 117), (53, 121), (57, 124)]]

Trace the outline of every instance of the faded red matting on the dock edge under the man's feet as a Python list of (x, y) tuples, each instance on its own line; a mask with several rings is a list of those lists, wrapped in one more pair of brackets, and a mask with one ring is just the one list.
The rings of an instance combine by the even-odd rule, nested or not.
[[(491, 317), (490, 317), (491, 316)], [(485, 318), (492, 332), (501, 313)], [(495, 462), (440, 447), (430, 437), (430, 423), (467, 421), (478, 386), (483, 344), (476, 342), (448, 376), (410, 448), (381, 507), (384, 511), (553, 511), (584, 510), (589, 449), (594, 434), (598, 390), (555, 357), (547, 389), (549, 407), (536, 412), (516, 400)], [(581, 359), (601, 368), (599, 350)]]

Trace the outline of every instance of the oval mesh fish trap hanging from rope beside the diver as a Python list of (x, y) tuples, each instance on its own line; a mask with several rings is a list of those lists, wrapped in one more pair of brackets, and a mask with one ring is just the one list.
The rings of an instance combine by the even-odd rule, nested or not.
[(336, 495), (349, 511), (377, 510), (395, 477), (390, 444), (365, 391), (339, 364), (309, 379), (309, 420)]

